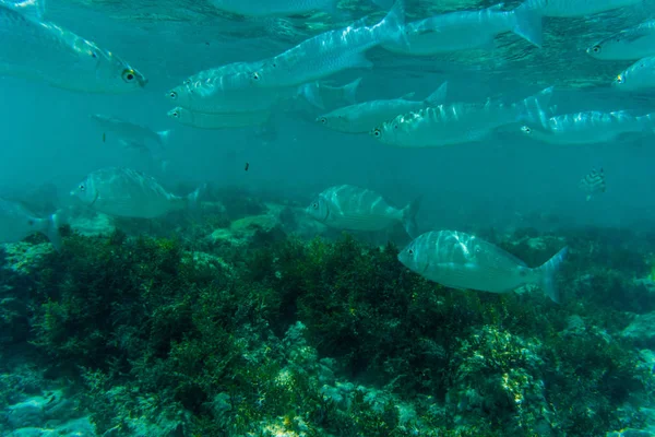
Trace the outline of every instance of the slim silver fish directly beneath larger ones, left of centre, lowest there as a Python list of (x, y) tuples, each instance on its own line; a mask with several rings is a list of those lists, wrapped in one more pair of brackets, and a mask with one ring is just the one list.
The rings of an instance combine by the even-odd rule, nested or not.
[(194, 113), (178, 106), (168, 111), (168, 117), (193, 128), (235, 129), (264, 125), (271, 118), (271, 111), (207, 114)]

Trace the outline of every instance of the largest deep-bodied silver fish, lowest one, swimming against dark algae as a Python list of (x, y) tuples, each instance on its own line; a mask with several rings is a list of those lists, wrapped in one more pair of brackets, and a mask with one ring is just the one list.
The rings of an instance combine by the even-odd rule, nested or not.
[(398, 253), (398, 260), (415, 273), (452, 288), (509, 293), (526, 284), (539, 284), (559, 303), (555, 274), (568, 248), (537, 268), (513, 255), (457, 231), (432, 231), (420, 235)]

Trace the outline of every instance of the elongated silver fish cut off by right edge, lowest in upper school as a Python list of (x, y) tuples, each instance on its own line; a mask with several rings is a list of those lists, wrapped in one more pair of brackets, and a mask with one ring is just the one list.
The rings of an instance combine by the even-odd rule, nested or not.
[(597, 110), (550, 117), (543, 126), (523, 126), (526, 137), (552, 144), (594, 144), (630, 133), (653, 133), (655, 114), (635, 117), (624, 110)]

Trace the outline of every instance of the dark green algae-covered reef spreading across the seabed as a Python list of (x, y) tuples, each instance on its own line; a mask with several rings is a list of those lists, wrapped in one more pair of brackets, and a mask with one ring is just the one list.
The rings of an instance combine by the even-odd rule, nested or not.
[(480, 233), (529, 265), (565, 241), (556, 305), (445, 288), (348, 235), (63, 231), (29, 275), (2, 271), (0, 341), (66, 380), (98, 435), (605, 436), (647, 420), (652, 368), (621, 332), (655, 310), (633, 282), (652, 236)]

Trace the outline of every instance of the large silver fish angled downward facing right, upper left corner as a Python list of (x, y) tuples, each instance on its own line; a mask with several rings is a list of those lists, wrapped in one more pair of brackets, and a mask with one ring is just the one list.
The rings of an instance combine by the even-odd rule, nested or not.
[(111, 51), (0, 4), (0, 74), (87, 93), (126, 93), (146, 80)]

